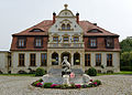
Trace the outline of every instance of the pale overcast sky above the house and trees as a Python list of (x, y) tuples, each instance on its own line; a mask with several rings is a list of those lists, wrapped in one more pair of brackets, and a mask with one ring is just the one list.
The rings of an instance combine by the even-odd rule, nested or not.
[(132, 36), (132, 0), (0, 0), (0, 51), (10, 49), (11, 34), (52, 20), (65, 3), (80, 20), (119, 34), (120, 41)]

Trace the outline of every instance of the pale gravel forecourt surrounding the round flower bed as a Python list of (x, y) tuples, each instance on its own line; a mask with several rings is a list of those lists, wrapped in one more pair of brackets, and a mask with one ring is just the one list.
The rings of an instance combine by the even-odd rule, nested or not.
[(0, 76), (0, 95), (132, 95), (132, 75), (103, 75), (99, 87), (80, 89), (47, 89), (30, 84), (41, 77)]

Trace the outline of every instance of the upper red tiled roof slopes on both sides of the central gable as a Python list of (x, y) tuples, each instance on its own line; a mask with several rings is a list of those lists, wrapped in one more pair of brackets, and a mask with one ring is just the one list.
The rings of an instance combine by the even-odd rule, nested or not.
[[(29, 28), (20, 33), (15, 33), (13, 35), (47, 35), (48, 33), (48, 29), (53, 25), (53, 21), (52, 20), (44, 20), (41, 23)], [(97, 25), (94, 25), (92, 23), (90, 23), (89, 21), (79, 21), (79, 25), (84, 30), (84, 35), (118, 35), (114, 33), (111, 33), (109, 31), (106, 31), (102, 28), (99, 28)], [(33, 29), (41, 29), (44, 32), (30, 32)], [(92, 32), (88, 32), (89, 30), (92, 29), (98, 29), (99, 31), (101, 31), (102, 33), (92, 33)]]

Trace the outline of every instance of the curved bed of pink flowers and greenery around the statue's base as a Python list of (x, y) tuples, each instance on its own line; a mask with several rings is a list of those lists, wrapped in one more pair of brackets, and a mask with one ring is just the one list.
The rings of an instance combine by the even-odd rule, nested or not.
[(90, 82), (85, 85), (74, 84), (74, 83), (70, 83), (70, 85), (67, 85), (67, 84), (44, 83), (43, 80), (41, 78), (36, 82), (33, 82), (31, 85), (35, 87), (43, 87), (43, 88), (88, 88), (88, 87), (97, 87), (101, 85), (101, 81), (90, 80)]

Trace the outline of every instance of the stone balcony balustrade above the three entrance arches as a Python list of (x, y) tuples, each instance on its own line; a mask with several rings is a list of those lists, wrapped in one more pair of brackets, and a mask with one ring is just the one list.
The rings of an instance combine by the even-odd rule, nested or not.
[(50, 49), (82, 49), (84, 43), (48, 43), (47, 45)]

